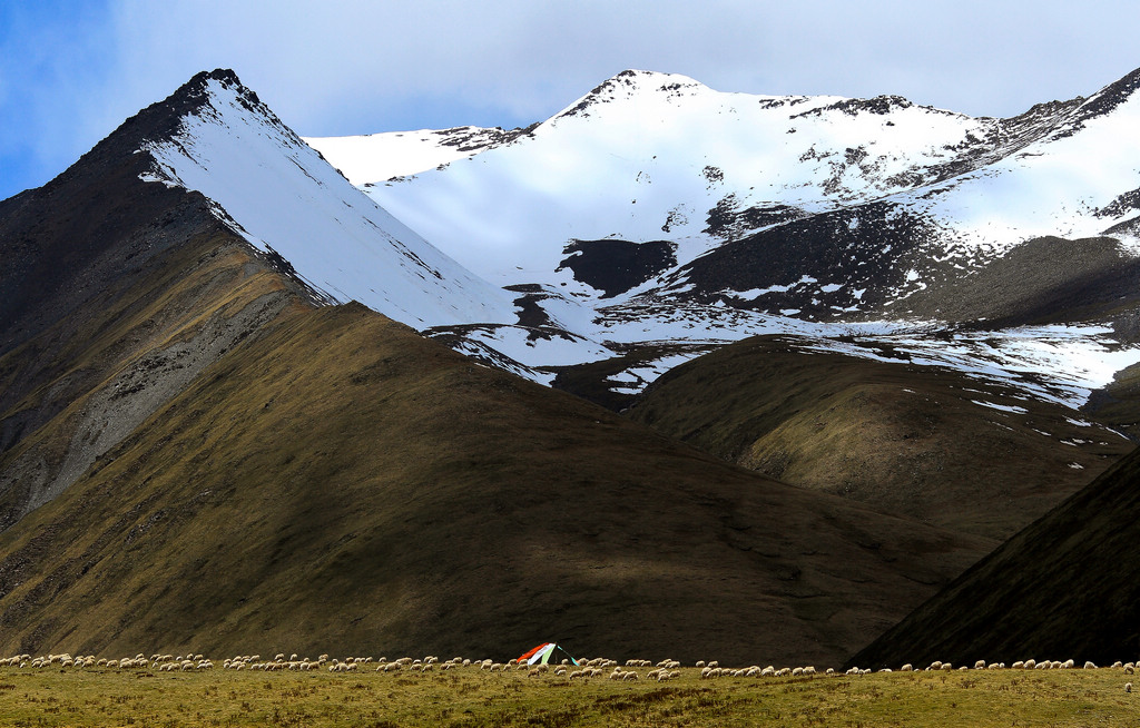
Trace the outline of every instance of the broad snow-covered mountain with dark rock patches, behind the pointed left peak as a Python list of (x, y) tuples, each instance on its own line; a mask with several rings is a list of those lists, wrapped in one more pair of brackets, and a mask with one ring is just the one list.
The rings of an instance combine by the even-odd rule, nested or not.
[[(552, 375), (534, 368), (630, 345), (758, 333), (821, 343), (905, 334), (915, 355), (961, 366), (915, 327), (1000, 319), (995, 330), (955, 335), (980, 354), (972, 366), (1059, 371), (1068, 393), (1057, 395), (1078, 402), (1140, 352), (1117, 351), (1121, 337), (1099, 312), (1031, 314), (1011, 303), (1043, 295), (1032, 286), (996, 297), (976, 289), (1009, 285), (986, 276), (1031, 255), (1023, 248), (1042, 259), (1036, 271), (1065, 269), (1039, 287), (1075, 285), (1066, 275), (1088, 284), (1082, 263), (1040, 250), (1044, 236), (1114, 236), (1115, 272), (1101, 288), (1134, 279), (1138, 85), (1140, 71), (1088, 99), (974, 118), (899, 97), (725, 93), (626, 71), (546, 122), (475, 137), (462, 155), (445, 146), (453, 132), (308, 141), (433, 245), (515, 292), (523, 332), (446, 335), (500, 365), (510, 352), (535, 378)], [(369, 173), (382, 144), (400, 164)], [(1085, 326), (1004, 330), (1059, 322)], [(1027, 363), (1026, 341), (1048, 341), (1044, 359)], [(668, 366), (614, 385), (643, 386)]]

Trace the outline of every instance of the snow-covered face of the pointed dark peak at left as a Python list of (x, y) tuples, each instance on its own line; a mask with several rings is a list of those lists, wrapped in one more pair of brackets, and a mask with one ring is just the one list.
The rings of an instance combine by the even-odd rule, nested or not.
[(197, 104), (142, 150), (145, 179), (196, 190), (254, 247), (323, 297), (359, 301), (417, 328), (514, 321), (510, 297), (352, 187), (231, 72), (196, 76)]

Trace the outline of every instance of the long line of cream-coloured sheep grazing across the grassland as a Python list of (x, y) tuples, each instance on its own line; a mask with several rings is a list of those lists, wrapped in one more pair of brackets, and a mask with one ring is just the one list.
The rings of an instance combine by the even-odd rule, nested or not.
[[(373, 668), (375, 665), (375, 668)], [(0, 659), (0, 668), (55, 668), (59, 669), (88, 669), (88, 668), (104, 668), (104, 669), (117, 669), (117, 670), (132, 670), (132, 669), (149, 669), (163, 672), (169, 672), (173, 670), (186, 671), (186, 670), (212, 670), (215, 664), (212, 660), (209, 660), (199, 654), (187, 653), (185, 655), (160, 655), (153, 654), (149, 657), (139, 653), (133, 657), (122, 657), (117, 660), (107, 660), (96, 657), (95, 655), (70, 655), (63, 654), (49, 654), (38, 657), (32, 655), (14, 655), (11, 657)], [(1135, 672), (1135, 663), (1127, 662), (1121, 663), (1116, 662), (1112, 665), (1114, 669), (1122, 669), (1126, 674), (1133, 674)], [(463, 657), (453, 657), (445, 662), (440, 662), (439, 657), (426, 656), (422, 660), (414, 660), (412, 657), (400, 657), (399, 660), (393, 660), (389, 662), (386, 657), (380, 657), (374, 660), (373, 657), (345, 657), (344, 660), (329, 659), (328, 655), (320, 655), (316, 660), (310, 660), (309, 657), (299, 659), (296, 654), (285, 656), (284, 653), (278, 653), (272, 660), (262, 660), (261, 655), (237, 655), (235, 657), (228, 657), (221, 662), (221, 668), (225, 670), (260, 670), (267, 672), (283, 671), (283, 670), (327, 670), (329, 672), (359, 672), (361, 670), (374, 670), (375, 672), (407, 672), (407, 673), (426, 673), (433, 671), (447, 671), (455, 669), (479, 669), (488, 672), (506, 672), (506, 671), (526, 671), (528, 677), (542, 677), (544, 674), (553, 674), (555, 677), (565, 678), (570, 681), (584, 680), (587, 678), (600, 678), (608, 677), (610, 680), (621, 680), (621, 681), (634, 681), (634, 680), (656, 680), (666, 681), (675, 680), (681, 677), (681, 662), (676, 660), (662, 660), (658, 663), (652, 663), (649, 660), (627, 660), (625, 665), (619, 665), (617, 661), (606, 657), (595, 657), (593, 660), (584, 660), (578, 664), (571, 664), (569, 660), (563, 660), (561, 664), (556, 665), (530, 665), (526, 662), (519, 662), (518, 660), (511, 660), (508, 662), (495, 662), (492, 660), (465, 660)], [(611, 669), (606, 676), (606, 670)], [(629, 668), (653, 668), (653, 670), (641, 676), (636, 670)], [(703, 660), (697, 662), (694, 668), (700, 670), (700, 679), (714, 679), (714, 678), (765, 678), (765, 677), (803, 677), (803, 676), (814, 676), (817, 674), (814, 666), (804, 668), (780, 668), (776, 669), (773, 665), (766, 668), (760, 668), (758, 665), (750, 665), (748, 668), (731, 669), (722, 668), (716, 661), (706, 663)], [(1009, 666), (1011, 670), (1070, 670), (1076, 668), (1076, 663), (1073, 660), (1065, 662), (1042, 660), (1037, 662), (1036, 660), (1025, 660), (1015, 662)], [(1085, 662), (1083, 668), (1085, 670), (1096, 669), (1097, 665), (1092, 662)], [(985, 660), (978, 660), (974, 663), (974, 666), (962, 665), (958, 670), (1004, 670), (1007, 669), (1004, 662), (987, 663)], [(954, 666), (948, 662), (935, 661), (930, 663), (929, 666), (920, 669), (925, 671), (946, 671), (954, 670)], [(913, 672), (917, 669), (911, 664), (904, 664), (898, 669), (898, 672)], [(850, 668), (844, 674), (868, 674), (872, 672), (869, 669)], [(891, 672), (890, 669), (878, 670), (877, 672)], [(824, 672), (824, 674), (836, 674), (836, 671), (831, 668)], [(1132, 684), (1127, 682), (1124, 686), (1125, 692), (1132, 692)]]

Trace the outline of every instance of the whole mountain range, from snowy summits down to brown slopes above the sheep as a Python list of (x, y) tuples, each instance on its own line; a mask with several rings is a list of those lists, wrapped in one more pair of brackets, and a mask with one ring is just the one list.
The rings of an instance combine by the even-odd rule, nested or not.
[(0, 202), (0, 652), (1134, 648), (985, 620), (1123, 589), (1135, 76), (990, 120), (630, 71), (365, 141), (196, 75)]

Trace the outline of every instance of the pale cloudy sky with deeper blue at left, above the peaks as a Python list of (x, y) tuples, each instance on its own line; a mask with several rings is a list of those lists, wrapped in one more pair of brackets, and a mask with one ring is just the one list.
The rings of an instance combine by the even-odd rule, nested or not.
[(0, 199), (198, 71), (301, 136), (524, 126), (625, 68), (975, 116), (1140, 67), (1132, 0), (0, 0)]

